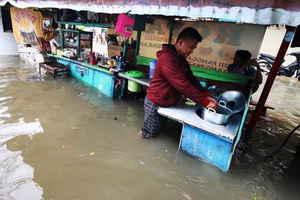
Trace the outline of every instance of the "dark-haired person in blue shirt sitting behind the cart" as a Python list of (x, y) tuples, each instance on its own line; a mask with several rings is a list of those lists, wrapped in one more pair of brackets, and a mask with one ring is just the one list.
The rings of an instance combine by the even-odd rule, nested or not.
[(253, 78), (252, 93), (254, 93), (262, 83), (262, 74), (256, 59), (250, 59), (251, 56), (247, 50), (237, 50), (234, 54), (233, 63), (227, 66), (227, 71), (251, 76)]

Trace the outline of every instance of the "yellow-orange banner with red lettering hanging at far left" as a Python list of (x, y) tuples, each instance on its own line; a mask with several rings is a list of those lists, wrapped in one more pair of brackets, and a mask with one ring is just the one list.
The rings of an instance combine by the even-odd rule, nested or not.
[(17, 43), (38, 47), (36, 37), (42, 34), (42, 15), (33, 8), (10, 7), (13, 35)]

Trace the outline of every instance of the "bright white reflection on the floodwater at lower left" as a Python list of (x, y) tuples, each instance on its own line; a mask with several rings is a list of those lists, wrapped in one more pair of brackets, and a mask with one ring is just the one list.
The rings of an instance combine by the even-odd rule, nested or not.
[(10, 151), (5, 144), (15, 136), (26, 134), (32, 137), (41, 132), (43, 129), (37, 119), (29, 123), (25, 123), (22, 118), (16, 123), (0, 123), (1, 199), (42, 199), (42, 188), (32, 180), (33, 168), (23, 162), (22, 151)]

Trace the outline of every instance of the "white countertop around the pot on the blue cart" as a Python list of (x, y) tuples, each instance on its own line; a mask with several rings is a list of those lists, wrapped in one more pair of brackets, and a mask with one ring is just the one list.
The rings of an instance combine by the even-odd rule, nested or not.
[(195, 112), (200, 108), (202, 108), (200, 104), (195, 106), (185, 105), (181, 99), (177, 105), (172, 107), (159, 107), (157, 111), (159, 114), (181, 123), (192, 125), (220, 137), (226, 137), (230, 140), (234, 139), (241, 122), (242, 116), (240, 114), (234, 113), (230, 116), (226, 125), (218, 125), (201, 119)]

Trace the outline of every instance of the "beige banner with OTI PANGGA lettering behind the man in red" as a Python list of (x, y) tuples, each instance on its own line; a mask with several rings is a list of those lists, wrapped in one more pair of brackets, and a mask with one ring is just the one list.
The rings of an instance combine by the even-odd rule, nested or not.
[[(186, 59), (194, 66), (227, 71), (238, 49), (248, 50), (256, 58), (263, 36), (265, 25), (229, 23), (220, 21), (187, 21), (177, 20), (173, 25), (171, 43), (176, 42), (179, 32), (187, 26), (196, 28), (202, 36), (202, 42)], [(161, 44), (168, 43), (169, 22), (155, 18), (153, 24), (146, 24), (141, 33), (139, 55), (156, 57)]]

